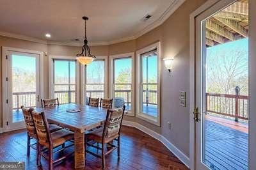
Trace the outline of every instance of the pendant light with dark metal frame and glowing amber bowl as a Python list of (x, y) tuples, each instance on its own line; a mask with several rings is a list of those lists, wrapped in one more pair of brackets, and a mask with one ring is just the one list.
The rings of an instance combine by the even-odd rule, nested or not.
[(88, 17), (83, 17), (82, 19), (84, 20), (84, 45), (82, 47), (82, 52), (76, 54), (76, 59), (82, 65), (89, 65), (96, 57), (91, 54), (86, 37), (86, 20), (88, 20)]

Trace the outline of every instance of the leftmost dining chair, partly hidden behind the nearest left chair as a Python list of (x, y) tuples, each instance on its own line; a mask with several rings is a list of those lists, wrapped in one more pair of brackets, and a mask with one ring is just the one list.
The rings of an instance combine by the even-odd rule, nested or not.
[[(30, 148), (33, 148), (36, 150), (36, 148), (34, 147), (36, 143), (31, 144), (31, 139), (37, 140), (35, 124), (31, 117), (31, 111), (33, 111), (33, 108), (25, 108), (22, 105), (21, 109), (22, 109), (22, 113), (23, 113), (26, 128), (27, 128), (27, 156), (29, 157)], [(49, 125), (50, 132), (55, 132), (55, 131), (61, 130), (61, 129), (62, 128), (57, 125), (54, 125), (54, 124)]]

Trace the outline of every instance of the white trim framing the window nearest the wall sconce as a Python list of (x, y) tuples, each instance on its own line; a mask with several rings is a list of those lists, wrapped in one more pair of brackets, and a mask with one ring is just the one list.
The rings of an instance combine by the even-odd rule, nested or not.
[[(150, 50), (157, 50), (157, 118), (149, 116), (143, 112), (140, 112), (141, 103), (140, 103), (140, 86), (141, 86), (141, 54), (149, 52)], [(136, 117), (141, 118), (142, 120), (148, 121), (154, 125), (160, 127), (161, 125), (161, 49), (160, 42), (149, 45), (143, 49), (136, 51)]]

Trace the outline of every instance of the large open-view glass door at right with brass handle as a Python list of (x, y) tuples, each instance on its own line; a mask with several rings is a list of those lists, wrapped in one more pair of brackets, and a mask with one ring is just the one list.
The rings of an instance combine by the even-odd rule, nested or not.
[[(214, 32), (215, 25), (226, 30), (231, 21), (221, 17), (245, 2), (218, 1), (195, 18), (195, 169), (248, 169), (248, 37)], [(228, 77), (229, 71), (241, 75)]]

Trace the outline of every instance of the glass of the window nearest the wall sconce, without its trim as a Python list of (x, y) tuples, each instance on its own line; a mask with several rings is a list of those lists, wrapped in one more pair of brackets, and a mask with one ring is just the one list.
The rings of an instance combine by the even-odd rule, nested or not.
[(141, 112), (157, 117), (157, 53), (141, 55)]

